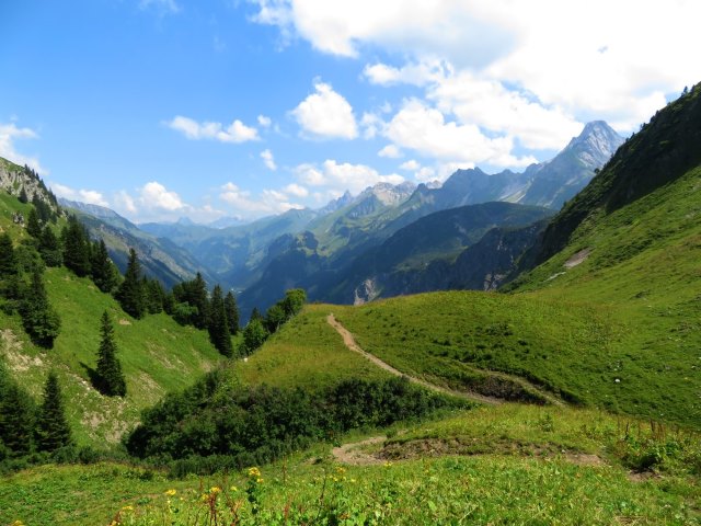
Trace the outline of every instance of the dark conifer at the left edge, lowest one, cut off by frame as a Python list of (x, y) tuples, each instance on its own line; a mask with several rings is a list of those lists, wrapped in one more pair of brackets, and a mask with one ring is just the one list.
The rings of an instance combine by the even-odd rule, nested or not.
[(35, 412), (32, 398), (0, 364), (0, 456), (21, 457), (34, 449)]

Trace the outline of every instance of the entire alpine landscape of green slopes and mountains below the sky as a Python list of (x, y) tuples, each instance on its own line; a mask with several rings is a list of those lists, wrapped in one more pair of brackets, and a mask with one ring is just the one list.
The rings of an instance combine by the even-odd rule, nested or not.
[(0, 186), (0, 524), (701, 524), (701, 84), (249, 224)]

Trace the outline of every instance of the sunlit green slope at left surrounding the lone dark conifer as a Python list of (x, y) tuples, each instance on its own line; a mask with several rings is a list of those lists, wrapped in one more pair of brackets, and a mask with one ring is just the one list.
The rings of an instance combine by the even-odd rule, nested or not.
[[(166, 391), (193, 384), (220, 359), (206, 332), (181, 327), (165, 315), (134, 320), (110, 296), (87, 278), (66, 268), (45, 274), (49, 299), (61, 317), (61, 332), (50, 351), (34, 346), (19, 317), (0, 312), (0, 348), (14, 378), (37, 400), (48, 371), (54, 368), (64, 390), (67, 416), (79, 444), (103, 447), (118, 442), (131, 428), (139, 411)], [(110, 312), (118, 358), (127, 378), (127, 397), (108, 398), (91, 387), (97, 362), (100, 316)]]

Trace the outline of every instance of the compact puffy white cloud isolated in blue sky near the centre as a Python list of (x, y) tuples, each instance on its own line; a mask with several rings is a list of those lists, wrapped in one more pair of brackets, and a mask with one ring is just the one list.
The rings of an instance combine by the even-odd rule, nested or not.
[(324, 82), (314, 90), (291, 111), (302, 130), (315, 138), (355, 139), (358, 128), (348, 101)]

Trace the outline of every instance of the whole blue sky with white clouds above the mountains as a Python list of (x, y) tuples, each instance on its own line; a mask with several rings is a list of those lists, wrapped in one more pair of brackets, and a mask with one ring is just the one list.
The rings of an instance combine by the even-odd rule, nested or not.
[(701, 81), (698, 0), (0, 0), (0, 157), (135, 222), (520, 171)]

